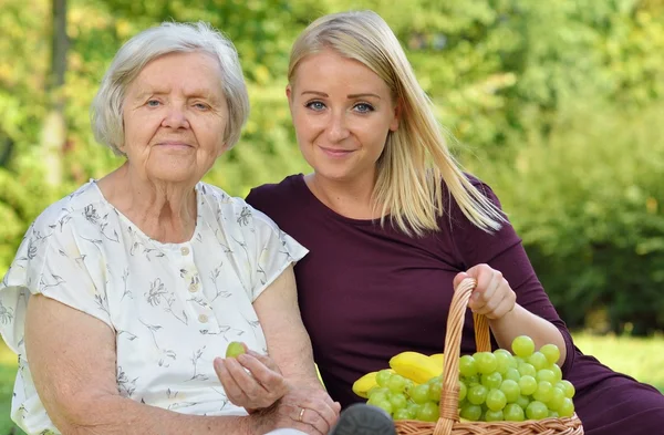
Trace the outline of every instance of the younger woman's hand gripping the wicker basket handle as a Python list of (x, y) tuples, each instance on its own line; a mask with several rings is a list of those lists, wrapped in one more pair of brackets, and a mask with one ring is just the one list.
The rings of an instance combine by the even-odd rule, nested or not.
[(454, 279), (456, 288), (465, 278), (475, 278), (477, 287), (470, 294), (468, 308), (489, 320), (501, 319), (515, 309), (517, 296), (499, 270), (488, 265), (477, 265)]

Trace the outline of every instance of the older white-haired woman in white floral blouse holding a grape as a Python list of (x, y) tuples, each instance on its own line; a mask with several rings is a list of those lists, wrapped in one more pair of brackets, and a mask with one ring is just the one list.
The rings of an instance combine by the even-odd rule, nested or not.
[[(124, 163), (46, 208), (0, 284), (12, 418), (29, 434), (328, 433), (339, 404), (293, 279), (307, 250), (200, 182), (249, 110), (232, 44), (203, 23), (144, 31), (92, 108)], [(219, 358), (231, 341), (252, 351)]]

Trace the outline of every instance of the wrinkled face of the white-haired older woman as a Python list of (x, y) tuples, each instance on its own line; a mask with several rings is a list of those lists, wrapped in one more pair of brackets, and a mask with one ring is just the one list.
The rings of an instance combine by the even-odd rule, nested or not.
[(205, 53), (172, 53), (149, 62), (124, 101), (132, 169), (155, 182), (198, 182), (224, 152), (228, 105), (221, 69)]

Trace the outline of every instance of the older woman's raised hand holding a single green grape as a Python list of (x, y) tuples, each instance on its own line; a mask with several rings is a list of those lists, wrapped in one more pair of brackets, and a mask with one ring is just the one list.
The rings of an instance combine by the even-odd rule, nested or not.
[(289, 390), (274, 361), (248, 349), (237, 358), (217, 358), (215, 371), (228, 400), (250, 414), (272, 406)]

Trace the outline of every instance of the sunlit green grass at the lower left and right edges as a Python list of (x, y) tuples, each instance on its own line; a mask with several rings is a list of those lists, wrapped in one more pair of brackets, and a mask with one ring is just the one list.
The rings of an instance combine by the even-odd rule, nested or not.
[[(596, 356), (611, 369), (654, 385), (664, 393), (664, 335), (635, 339), (580, 333), (574, 334), (574, 341), (583, 353)], [(0, 342), (0, 435), (23, 434), (14, 428), (9, 417), (15, 371), (14, 354)]]

